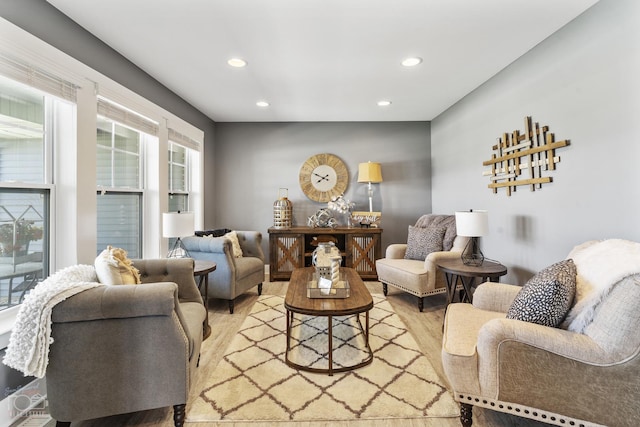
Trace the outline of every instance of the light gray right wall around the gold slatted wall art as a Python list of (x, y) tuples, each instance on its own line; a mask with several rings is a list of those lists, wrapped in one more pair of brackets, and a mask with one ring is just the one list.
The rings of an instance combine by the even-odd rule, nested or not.
[[(431, 124), (434, 210), (487, 209), (483, 252), (511, 283), (586, 240), (640, 240), (639, 17), (637, 0), (601, 0)], [(482, 162), (527, 115), (571, 145), (541, 190), (493, 194)]]

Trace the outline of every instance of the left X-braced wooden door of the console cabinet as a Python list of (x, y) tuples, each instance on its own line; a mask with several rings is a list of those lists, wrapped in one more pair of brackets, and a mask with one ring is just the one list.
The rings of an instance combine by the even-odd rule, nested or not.
[(296, 268), (304, 267), (304, 235), (269, 232), (269, 278), (289, 280)]

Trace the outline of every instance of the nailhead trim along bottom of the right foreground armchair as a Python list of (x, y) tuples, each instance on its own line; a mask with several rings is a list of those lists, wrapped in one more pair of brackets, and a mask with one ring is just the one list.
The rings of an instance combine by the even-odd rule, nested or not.
[(468, 405), (480, 406), (487, 409), (493, 409), (498, 412), (505, 412), (532, 420), (543, 421), (548, 424), (558, 426), (575, 426), (575, 427), (605, 427), (602, 424), (595, 424), (589, 421), (579, 420), (554, 412), (543, 411), (532, 408), (530, 406), (519, 405), (517, 403), (503, 402), (501, 400), (488, 399), (486, 397), (478, 397), (471, 394), (458, 393), (455, 400)]

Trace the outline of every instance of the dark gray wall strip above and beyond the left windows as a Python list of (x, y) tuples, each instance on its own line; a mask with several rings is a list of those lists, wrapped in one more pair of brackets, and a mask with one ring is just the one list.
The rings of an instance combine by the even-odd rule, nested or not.
[[(214, 181), (214, 122), (45, 0), (1, 0), (0, 16), (204, 132), (205, 182)], [(205, 191), (205, 223), (213, 195)]]

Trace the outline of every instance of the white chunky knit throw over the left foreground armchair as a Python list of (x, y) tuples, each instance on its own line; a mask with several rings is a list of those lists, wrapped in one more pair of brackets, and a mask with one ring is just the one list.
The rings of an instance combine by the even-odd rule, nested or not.
[(25, 375), (44, 377), (49, 363), (49, 345), (53, 342), (53, 307), (79, 292), (103, 286), (97, 280), (92, 265), (74, 265), (49, 276), (32, 289), (20, 306), (2, 362)]

